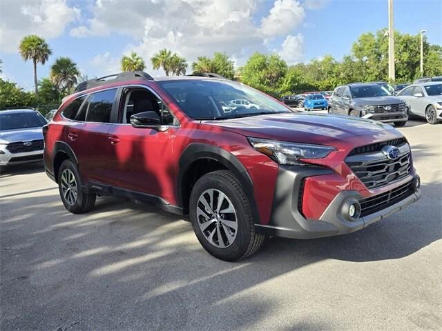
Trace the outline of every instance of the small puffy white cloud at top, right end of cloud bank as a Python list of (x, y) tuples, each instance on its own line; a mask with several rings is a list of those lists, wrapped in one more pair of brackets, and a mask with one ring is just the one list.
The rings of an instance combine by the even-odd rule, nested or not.
[(261, 21), (260, 32), (275, 37), (290, 33), (304, 20), (305, 12), (298, 1), (276, 0), (269, 16)]

